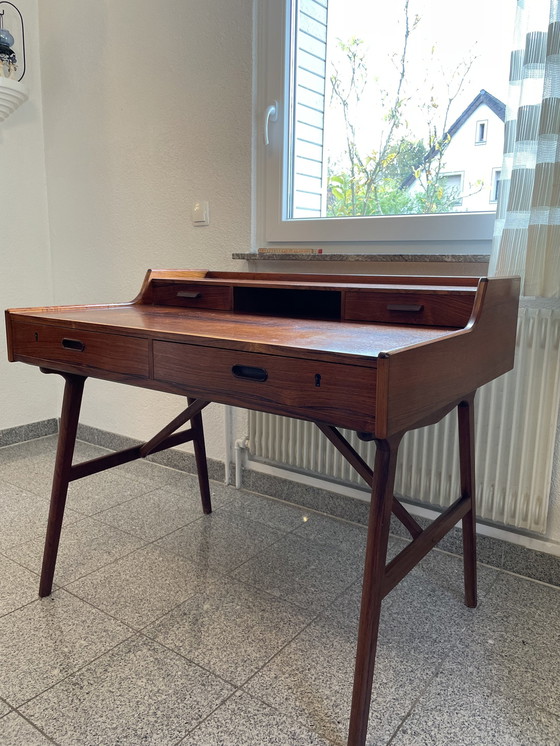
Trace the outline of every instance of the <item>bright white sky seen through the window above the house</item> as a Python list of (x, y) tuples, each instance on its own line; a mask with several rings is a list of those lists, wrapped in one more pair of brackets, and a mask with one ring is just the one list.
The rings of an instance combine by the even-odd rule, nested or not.
[[(347, 81), (350, 67), (338, 50), (338, 40), (347, 43), (352, 37), (361, 39), (366, 52), (367, 85), (352, 119), (358, 123), (357, 139), (362, 149), (376, 147), (387, 124), (383, 114), (380, 91), (394, 91), (397, 73), (394, 62), (403, 49), (404, 0), (329, 0), (329, 54), (327, 78), (338, 70)], [(504, 103), (507, 96), (509, 52), (513, 39), (515, 0), (410, 0), (411, 31), (408, 43), (408, 63), (405, 76), (406, 119), (419, 137), (426, 135), (426, 123), (433, 117), (441, 126), (446, 102), (454, 97), (447, 128), (455, 121), (481, 89), (487, 90)], [(470, 64), (463, 75), (457, 71)], [(455, 75), (454, 75), (455, 73)], [(452, 90), (454, 93), (449, 94)], [(386, 101), (393, 100), (389, 93)], [(327, 92), (329, 126), (326, 146), (331, 161), (343, 159), (341, 142), (344, 123), (341, 107), (330, 102)], [(425, 104), (434, 106), (426, 108)]]

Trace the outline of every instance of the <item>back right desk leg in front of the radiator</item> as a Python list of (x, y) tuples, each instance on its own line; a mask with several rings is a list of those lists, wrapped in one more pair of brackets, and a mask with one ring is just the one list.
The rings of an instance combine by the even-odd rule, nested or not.
[(474, 394), (458, 406), (461, 495), (470, 501), (470, 510), (462, 519), (465, 604), (474, 607), (476, 594), (476, 503), (474, 476)]

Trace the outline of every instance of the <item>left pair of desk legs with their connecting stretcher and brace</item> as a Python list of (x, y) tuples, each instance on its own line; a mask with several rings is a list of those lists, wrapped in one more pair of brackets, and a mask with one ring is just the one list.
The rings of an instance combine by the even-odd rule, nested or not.
[[(58, 373), (48, 369), (41, 369), (43, 373)], [(181, 443), (193, 441), (195, 460), (198, 471), (198, 483), (204, 513), (212, 512), (210, 500), (210, 484), (208, 481), (208, 467), (206, 464), (206, 451), (204, 447), (204, 430), (202, 426), (201, 411), (209, 402), (203, 399), (188, 398), (188, 407), (181, 412), (169, 425), (166, 425), (159, 433), (147, 443), (126, 448), (122, 451), (110, 453), (107, 456), (72, 464), (80, 407), (85, 376), (70, 373), (59, 373), (65, 380), (64, 398), (62, 401), (62, 412), (60, 415), (60, 430), (56, 451), (54, 477), (51, 491), (51, 503), (49, 519), (47, 523), (47, 535), (45, 538), (45, 549), (43, 553), (43, 566), (41, 580), (39, 583), (39, 596), (48, 596), (52, 591), (56, 556), (62, 530), (62, 520), (68, 494), (68, 485), (76, 479), (106, 471), (114, 466), (120, 466), (138, 458), (145, 458), (151, 453), (166, 450)], [(187, 430), (176, 433), (177, 428), (190, 420), (191, 426)]]

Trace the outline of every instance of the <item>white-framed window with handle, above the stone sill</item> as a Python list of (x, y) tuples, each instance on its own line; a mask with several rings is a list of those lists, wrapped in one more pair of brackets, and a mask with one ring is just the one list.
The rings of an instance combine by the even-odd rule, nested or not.
[(500, 124), (511, 33), (497, 42), (495, 28), (513, 24), (514, 4), (473, 2), (485, 29), (468, 10), (458, 37), (457, 13), (441, 13), (435, 0), (263, 0), (260, 240), (491, 238), (493, 205), (458, 210), (449, 175), (475, 183), (482, 177), (468, 168), (487, 174), (495, 165), (471, 158), (472, 134), (467, 145), (463, 133), (476, 124), (486, 137), (488, 120), (476, 114), (488, 105)]

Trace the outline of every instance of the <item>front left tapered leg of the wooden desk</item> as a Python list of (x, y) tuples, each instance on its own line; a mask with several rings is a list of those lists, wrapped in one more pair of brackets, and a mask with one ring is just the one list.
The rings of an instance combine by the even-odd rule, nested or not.
[(82, 393), (86, 380), (84, 376), (76, 376), (69, 373), (62, 375), (66, 383), (62, 401), (62, 414), (60, 416), (60, 431), (58, 434), (58, 446), (54, 466), (47, 536), (45, 538), (43, 553), (43, 567), (39, 584), (39, 596), (41, 597), (48, 596), (52, 590), (56, 555), (60, 541), (62, 519), (64, 517), (64, 506), (66, 505), (66, 495), (70, 482), (70, 468), (74, 455)]

